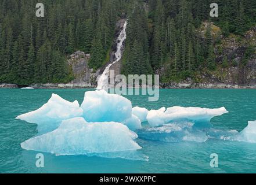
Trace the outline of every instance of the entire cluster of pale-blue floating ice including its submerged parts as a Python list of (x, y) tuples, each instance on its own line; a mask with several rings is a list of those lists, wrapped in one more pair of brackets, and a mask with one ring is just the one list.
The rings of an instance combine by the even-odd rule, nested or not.
[[(16, 119), (38, 125), (38, 135), (21, 143), (26, 150), (56, 156), (86, 155), (147, 160), (136, 138), (161, 142), (205, 142), (221, 139), (256, 143), (256, 121), (241, 132), (212, 128), (210, 120), (225, 108), (134, 107), (127, 98), (105, 90), (85, 92), (81, 106), (52, 94), (41, 108)], [(143, 127), (142, 127), (142, 123)]]

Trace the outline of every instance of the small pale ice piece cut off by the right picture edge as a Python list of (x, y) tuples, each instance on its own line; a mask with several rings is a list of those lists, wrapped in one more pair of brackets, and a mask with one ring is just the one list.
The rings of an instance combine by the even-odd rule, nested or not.
[(232, 140), (256, 143), (256, 121), (248, 121), (247, 127), (236, 136), (233, 136)]

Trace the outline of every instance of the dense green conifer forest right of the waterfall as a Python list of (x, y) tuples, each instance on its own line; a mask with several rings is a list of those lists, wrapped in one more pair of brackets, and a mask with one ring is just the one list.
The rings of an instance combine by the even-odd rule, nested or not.
[[(145, 2), (149, 3), (148, 8)], [(164, 66), (161, 80), (170, 82), (194, 77), (203, 70), (216, 70), (218, 39), (212, 38), (210, 24), (202, 36), (198, 31), (202, 23), (214, 22), (224, 36), (243, 35), (256, 24), (256, 2), (215, 1), (219, 17), (210, 17), (211, 3), (208, 0), (149, 0), (141, 4), (137, 1), (129, 15), (125, 49), (125, 56), (129, 57), (124, 58), (123, 72), (150, 73)], [(222, 63), (227, 66), (226, 57)]]

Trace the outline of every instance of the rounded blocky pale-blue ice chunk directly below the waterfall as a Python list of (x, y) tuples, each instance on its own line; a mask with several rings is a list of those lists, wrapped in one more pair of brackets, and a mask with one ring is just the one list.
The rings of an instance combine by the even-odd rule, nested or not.
[(81, 108), (88, 122), (121, 123), (132, 116), (131, 101), (117, 94), (108, 94), (105, 90), (85, 92)]

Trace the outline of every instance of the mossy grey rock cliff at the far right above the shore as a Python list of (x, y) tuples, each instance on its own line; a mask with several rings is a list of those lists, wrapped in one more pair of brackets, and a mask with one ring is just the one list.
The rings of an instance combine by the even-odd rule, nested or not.
[[(232, 86), (255, 87), (256, 86), (256, 53), (246, 58), (250, 47), (256, 47), (256, 27), (248, 31), (240, 40), (235, 36), (223, 39), (221, 53), (216, 52), (217, 62), (222, 63), (227, 56), (228, 68), (221, 68), (217, 74), (212, 74), (206, 81), (231, 84)], [(244, 60), (246, 60), (244, 62)]]

